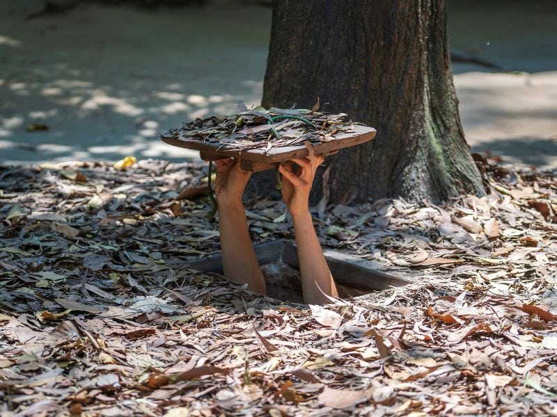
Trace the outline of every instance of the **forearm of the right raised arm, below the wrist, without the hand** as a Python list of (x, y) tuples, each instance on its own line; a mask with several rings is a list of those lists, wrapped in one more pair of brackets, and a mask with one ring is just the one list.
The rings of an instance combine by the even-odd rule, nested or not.
[[(292, 221), (298, 247), (304, 301), (308, 304), (329, 302), (329, 299), (323, 293), (335, 297), (338, 296), (338, 293), (315, 233), (311, 214), (307, 211), (300, 215), (293, 215)], [(317, 286), (321, 288), (321, 291)]]

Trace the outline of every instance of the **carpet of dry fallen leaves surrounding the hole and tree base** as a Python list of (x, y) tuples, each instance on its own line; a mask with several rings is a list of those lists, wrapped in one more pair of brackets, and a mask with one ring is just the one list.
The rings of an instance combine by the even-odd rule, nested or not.
[(324, 247), (415, 278), (305, 306), (185, 269), (219, 249), (200, 165), (0, 167), (0, 415), (554, 415), (557, 179), (483, 169), (483, 198), (329, 206)]

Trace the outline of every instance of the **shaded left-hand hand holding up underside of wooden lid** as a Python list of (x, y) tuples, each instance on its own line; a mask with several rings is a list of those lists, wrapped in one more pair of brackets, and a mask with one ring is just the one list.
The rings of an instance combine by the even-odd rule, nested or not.
[(237, 159), (223, 158), (214, 161), (217, 166), (217, 179), (214, 182), (214, 195), (223, 204), (242, 203), (242, 195), (251, 172), (244, 171)]

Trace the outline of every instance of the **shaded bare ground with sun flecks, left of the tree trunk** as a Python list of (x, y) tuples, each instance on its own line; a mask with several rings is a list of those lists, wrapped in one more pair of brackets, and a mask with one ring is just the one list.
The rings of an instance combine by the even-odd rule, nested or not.
[[(29, 7), (0, 12), (5, 163), (196, 158), (158, 133), (260, 101), (269, 8), (84, 6), (32, 20)], [(48, 130), (27, 132), (33, 123)]]

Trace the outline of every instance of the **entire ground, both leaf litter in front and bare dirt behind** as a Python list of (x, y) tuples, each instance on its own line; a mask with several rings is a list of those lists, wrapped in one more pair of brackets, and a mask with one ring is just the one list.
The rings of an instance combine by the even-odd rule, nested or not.
[(206, 168), (157, 137), (260, 101), (270, 9), (43, 4), (0, 2), (1, 161), (35, 164), (0, 166), (1, 417), (555, 414), (557, 180), (525, 167), (557, 166), (555, 2), (450, 3), (453, 51), (499, 67), (453, 65), (466, 138), (512, 166), (481, 199), (329, 206), (324, 247), (414, 280), (327, 306), (185, 268), (219, 250)]

